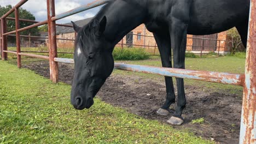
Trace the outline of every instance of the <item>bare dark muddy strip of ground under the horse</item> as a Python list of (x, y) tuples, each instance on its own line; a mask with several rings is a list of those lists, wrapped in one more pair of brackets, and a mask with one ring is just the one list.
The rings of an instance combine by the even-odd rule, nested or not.
[[(48, 62), (36, 62), (22, 67), (36, 71), (37, 74), (49, 78)], [(59, 79), (72, 83), (73, 65), (59, 63)], [(185, 123), (171, 126), (176, 129), (188, 129), (195, 135), (217, 143), (238, 143), (241, 116), (241, 95), (229, 92), (211, 92), (196, 86), (185, 86), (187, 108), (183, 111)], [(148, 119), (157, 119), (166, 123), (171, 117), (174, 106), (170, 107), (170, 115), (158, 116), (155, 111), (164, 103), (165, 83), (146, 80), (139, 76), (110, 76), (97, 97), (106, 103), (122, 107), (131, 113)], [(205, 118), (202, 124), (192, 124), (193, 119)]]

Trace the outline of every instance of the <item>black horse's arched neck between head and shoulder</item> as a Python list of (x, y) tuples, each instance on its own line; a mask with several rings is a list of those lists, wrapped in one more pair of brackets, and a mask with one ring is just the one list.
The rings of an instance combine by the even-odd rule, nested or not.
[(144, 22), (146, 10), (134, 2), (121, 0), (109, 5), (104, 15), (107, 17), (104, 33), (106, 38), (115, 45), (132, 29)]

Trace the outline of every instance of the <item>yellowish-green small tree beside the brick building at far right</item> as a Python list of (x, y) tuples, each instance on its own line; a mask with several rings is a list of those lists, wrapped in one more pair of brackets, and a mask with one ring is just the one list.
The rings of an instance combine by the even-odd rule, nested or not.
[(231, 54), (235, 54), (237, 51), (245, 50), (245, 47), (242, 45), (242, 40), (240, 34), (237, 32), (236, 28), (231, 28), (228, 31), (228, 43), (231, 44)]

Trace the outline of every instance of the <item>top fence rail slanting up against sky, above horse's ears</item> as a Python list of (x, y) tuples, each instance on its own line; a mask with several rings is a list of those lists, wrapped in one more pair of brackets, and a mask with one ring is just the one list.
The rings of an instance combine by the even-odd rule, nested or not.
[(97, 0), (97, 1), (94, 1), (94, 2), (89, 3), (89, 4), (82, 5), (81, 7), (69, 10), (69, 11), (67, 11), (65, 13), (56, 15), (56, 16), (52, 17), (51, 20), (53, 20), (53, 21), (60, 20), (60, 19), (63, 19), (64, 17), (80, 13), (81, 11), (89, 10), (89, 9), (98, 7), (100, 5), (106, 4), (108, 1), (110, 1), (110, 0)]

